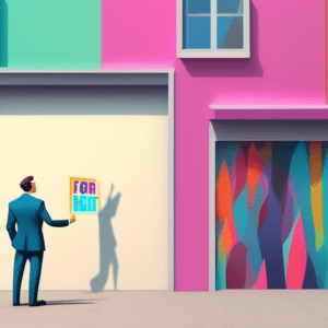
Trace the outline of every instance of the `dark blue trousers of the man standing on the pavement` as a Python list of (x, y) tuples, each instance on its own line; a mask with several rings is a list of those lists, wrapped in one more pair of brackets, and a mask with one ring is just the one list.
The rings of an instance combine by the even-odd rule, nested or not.
[(21, 284), (26, 260), (30, 260), (28, 304), (37, 301), (38, 284), (43, 266), (44, 251), (16, 250), (13, 270), (13, 304), (20, 304)]

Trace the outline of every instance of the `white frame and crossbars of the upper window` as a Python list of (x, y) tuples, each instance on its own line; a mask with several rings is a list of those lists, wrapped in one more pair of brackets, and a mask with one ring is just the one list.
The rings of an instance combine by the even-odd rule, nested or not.
[[(250, 58), (250, 8), (249, 0), (243, 1), (243, 49), (218, 49), (218, 16), (239, 16), (238, 14), (218, 14), (218, 0), (211, 0), (211, 48), (210, 49), (184, 49), (184, 0), (177, 0), (177, 57), (178, 58)], [(229, 0), (227, 0), (229, 1)], [(200, 14), (204, 16), (208, 14)]]

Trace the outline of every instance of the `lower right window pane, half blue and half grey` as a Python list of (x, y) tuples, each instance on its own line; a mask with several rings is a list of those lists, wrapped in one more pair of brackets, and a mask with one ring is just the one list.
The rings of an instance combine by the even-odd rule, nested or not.
[(243, 48), (243, 17), (218, 17), (218, 49)]

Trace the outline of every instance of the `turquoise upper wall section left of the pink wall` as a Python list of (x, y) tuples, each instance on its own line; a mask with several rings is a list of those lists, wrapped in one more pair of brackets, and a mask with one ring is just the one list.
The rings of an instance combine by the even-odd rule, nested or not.
[(101, 0), (0, 0), (0, 65), (101, 69)]

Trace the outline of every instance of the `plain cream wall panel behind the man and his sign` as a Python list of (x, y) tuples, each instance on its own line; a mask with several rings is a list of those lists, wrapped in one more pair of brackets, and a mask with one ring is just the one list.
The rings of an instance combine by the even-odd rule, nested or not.
[[(118, 290), (167, 289), (167, 116), (1, 116), (0, 150), (1, 290), (12, 289), (8, 203), (27, 175), (54, 220), (69, 218), (70, 176), (99, 180), (103, 206), (114, 184), (113, 196), (121, 194), (112, 220)], [(62, 229), (44, 224), (40, 290), (90, 290), (99, 267), (98, 218), (77, 219)], [(105, 289), (113, 288), (110, 268)]]

